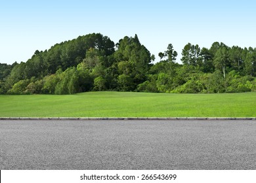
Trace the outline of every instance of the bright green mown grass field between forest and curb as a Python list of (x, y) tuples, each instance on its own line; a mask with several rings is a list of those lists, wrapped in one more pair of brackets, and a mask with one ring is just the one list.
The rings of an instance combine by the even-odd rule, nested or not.
[(255, 117), (256, 92), (0, 95), (0, 117)]

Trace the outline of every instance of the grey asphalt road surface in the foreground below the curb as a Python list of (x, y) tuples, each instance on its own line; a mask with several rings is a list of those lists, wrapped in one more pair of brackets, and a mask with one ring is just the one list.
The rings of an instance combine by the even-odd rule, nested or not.
[(256, 121), (0, 120), (0, 169), (256, 169)]

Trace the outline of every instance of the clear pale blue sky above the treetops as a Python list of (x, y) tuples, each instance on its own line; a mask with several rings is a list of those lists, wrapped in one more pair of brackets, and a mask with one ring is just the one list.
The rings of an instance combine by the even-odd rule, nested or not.
[(101, 33), (115, 43), (138, 35), (159, 61), (169, 43), (210, 48), (256, 47), (256, 1), (228, 0), (0, 0), (0, 63), (26, 62), (35, 50)]

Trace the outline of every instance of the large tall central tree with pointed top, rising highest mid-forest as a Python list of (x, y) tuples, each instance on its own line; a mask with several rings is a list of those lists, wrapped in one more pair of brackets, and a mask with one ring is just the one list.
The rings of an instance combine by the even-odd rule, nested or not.
[[(128, 88), (127, 91), (133, 91), (137, 85), (146, 80), (146, 74), (150, 69), (152, 61), (150, 52), (145, 46), (140, 44), (139, 38), (124, 37), (117, 43), (117, 50), (114, 54), (115, 63), (118, 71), (118, 83), (121, 90)], [(125, 75), (125, 76), (124, 76)], [(123, 82), (127, 80), (127, 84)]]

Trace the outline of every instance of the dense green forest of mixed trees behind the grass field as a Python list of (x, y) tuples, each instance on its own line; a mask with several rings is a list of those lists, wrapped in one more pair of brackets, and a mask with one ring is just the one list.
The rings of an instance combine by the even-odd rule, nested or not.
[(256, 48), (188, 43), (177, 62), (173, 44), (160, 61), (135, 37), (116, 44), (92, 33), (36, 50), (26, 62), (0, 63), (1, 94), (89, 91), (236, 93), (256, 91)]

